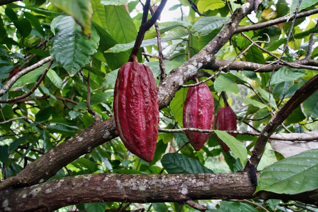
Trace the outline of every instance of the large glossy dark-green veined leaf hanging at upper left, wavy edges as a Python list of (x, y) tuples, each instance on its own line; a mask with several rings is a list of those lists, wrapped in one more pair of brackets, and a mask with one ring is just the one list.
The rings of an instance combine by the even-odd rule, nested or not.
[(92, 30), (89, 39), (82, 34), (73, 17), (65, 16), (55, 24), (55, 36), (51, 40), (50, 53), (54, 60), (73, 76), (92, 60), (98, 45), (99, 36), (96, 31)]

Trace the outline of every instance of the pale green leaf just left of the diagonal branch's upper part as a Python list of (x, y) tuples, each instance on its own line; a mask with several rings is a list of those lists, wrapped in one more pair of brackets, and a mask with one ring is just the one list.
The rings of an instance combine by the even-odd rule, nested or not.
[(192, 30), (199, 34), (209, 34), (215, 29), (221, 28), (227, 21), (226, 17), (202, 17), (192, 26)]

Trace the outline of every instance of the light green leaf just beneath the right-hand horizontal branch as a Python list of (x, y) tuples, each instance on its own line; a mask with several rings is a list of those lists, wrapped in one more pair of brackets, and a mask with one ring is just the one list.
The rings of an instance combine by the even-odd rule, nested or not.
[[(301, 78), (306, 71), (304, 69), (296, 69), (290, 67), (282, 67), (278, 71), (273, 73), (271, 79), (271, 85), (275, 85), (277, 83), (285, 82), (285, 81), (294, 81)], [(269, 83), (267, 83), (268, 85)]]

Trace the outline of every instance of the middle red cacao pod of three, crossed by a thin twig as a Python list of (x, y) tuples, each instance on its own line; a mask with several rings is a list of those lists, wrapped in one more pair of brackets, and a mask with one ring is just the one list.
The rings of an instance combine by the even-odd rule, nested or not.
[[(183, 127), (211, 130), (214, 121), (214, 99), (205, 84), (190, 87), (183, 107)], [(209, 139), (209, 134), (185, 132), (192, 147), (199, 151)]]

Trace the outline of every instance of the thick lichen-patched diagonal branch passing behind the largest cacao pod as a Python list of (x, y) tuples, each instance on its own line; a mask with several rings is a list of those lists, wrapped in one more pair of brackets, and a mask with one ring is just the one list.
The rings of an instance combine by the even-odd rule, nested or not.
[[(163, 2), (163, 1), (162, 1)], [(260, 2), (261, 3), (261, 2)], [(160, 6), (159, 6), (160, 7)], [(158, 9), (159, 9), (158, 7)], [(158, 9), (156, 11), (158, 11)], [(234, 29), (241, 19), (253, 9), (253, 1), (250, 0), (234, 11), (232, 18), (225, 24), (219, 34), (209, 42), (201, 51), (190, 58), (185, 64), (170, 72), (159, 87), (159, 108), (169, 105), (175, 93), (184, 82), (196, 75), (197, 71), (211, 62), (214, 54), (234, 34)], [(155, 12), (156, 14), (156, 12)], [(42, 157), (29, 164), (24, 170), (14, 177), (0, 183), (0, 191), (9, 186), (29, 186), (44, 182), (53, 176), (59, 169), (66, 166), (79, 156), (93, 150), (93, 148), (117, 137), (114, 119), (94, 123), (84, 132), (64, 141), (59, 146), (51, 149)]]

